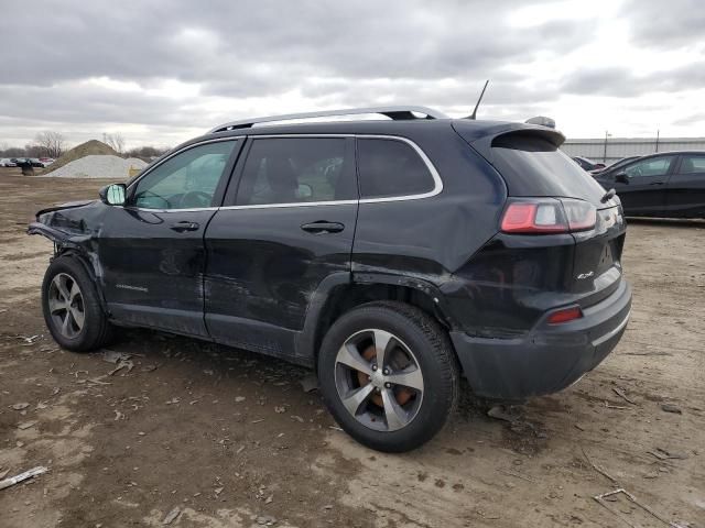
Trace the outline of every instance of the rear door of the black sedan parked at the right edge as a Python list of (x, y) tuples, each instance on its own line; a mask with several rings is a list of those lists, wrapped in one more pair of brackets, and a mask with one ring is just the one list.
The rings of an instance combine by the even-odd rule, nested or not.
[(666, 186), (666, 213), (705, 218), (705, 152), (684, 153)]

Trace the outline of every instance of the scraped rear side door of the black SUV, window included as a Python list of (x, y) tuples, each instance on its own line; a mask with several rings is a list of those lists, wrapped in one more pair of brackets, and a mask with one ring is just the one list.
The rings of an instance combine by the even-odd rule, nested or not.
[(206, 324), (218, 342), (292, 356), (317, 292), (350, 279), (355, 143), (253, 138), (238, 173), (206, 231)]

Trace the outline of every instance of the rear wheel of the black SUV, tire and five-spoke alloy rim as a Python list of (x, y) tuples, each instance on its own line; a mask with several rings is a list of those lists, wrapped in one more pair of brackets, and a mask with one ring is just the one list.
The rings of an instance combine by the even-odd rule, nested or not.
[(338, 319), (318, 355), (324, 400), (360, 443), (404, 452), (445, 425), (458, 394), (447, 333), (403, 302), (370, 302)]

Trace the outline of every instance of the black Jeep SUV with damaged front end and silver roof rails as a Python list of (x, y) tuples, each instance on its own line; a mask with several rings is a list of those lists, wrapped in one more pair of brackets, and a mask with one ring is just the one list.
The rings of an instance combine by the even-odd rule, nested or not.
[[(281, 124), (371, 112), (391, 119)], [(75, 351), (134, 326), (315, 367), (348, 433), (413, 449), (460, 375), (487, 398), (553, 393), (627, 326), (621, 207), (563, 141), (422, 107), (228, 123), (37, 213), (46, 324)]]

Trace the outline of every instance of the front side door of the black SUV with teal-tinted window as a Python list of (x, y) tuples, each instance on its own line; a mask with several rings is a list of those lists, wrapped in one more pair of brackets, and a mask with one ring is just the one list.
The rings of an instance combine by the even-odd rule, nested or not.
[(188, 146), (151, 167), (110, 207), (99, 239), (104, 294), (126, 323), (207, 336), (204, 232), (239, 148), (232, 139)]

